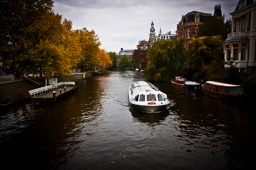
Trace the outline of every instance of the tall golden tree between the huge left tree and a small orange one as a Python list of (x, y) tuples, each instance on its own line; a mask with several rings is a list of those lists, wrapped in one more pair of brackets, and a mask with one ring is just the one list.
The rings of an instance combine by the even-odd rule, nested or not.
[(86, 27), (76, 30), (76, 35), (79, 36), (79, 43), (82, 48), (79, 67), (94, 67), (98, 61), (99, 47), (101, 45), (98, 35), (95, 34), (94, 30), (88, 31)]

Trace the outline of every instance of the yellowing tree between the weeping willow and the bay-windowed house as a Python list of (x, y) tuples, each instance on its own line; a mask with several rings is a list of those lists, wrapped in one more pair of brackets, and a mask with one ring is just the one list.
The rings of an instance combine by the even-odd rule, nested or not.
[(190, 40), (184, 55), (191, 72), (204, 73), (210, 80), (223, 79), (225, 69), (221, 36), (202, 36)]

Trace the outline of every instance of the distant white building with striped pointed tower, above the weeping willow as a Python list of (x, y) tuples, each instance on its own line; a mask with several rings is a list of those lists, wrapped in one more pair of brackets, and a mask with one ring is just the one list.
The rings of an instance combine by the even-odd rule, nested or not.
[(158, 41), (159, 39), (173, 39), (173, 40), (176, 39), (176, 34), (171, 34), (170, 31), (167, 32), (166, 34), (162, 35), (161, 28), (160, 28), (160, 32), (159, 32), (158, 36), (156, 36), (155, 34), (156, 33), (155, 33), (155, 29), (154, 29), (154, 23), (152, 21), (151, 29), (150, 29), (150, 39), (149, 39), (150, 47), (152, 47), (154, 42)]

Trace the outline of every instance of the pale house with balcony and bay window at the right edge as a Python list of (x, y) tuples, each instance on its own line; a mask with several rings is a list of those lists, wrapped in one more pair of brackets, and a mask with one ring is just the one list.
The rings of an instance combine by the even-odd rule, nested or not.
[(232, 15), (232, 31), (224, 41), (225, 65), (256, 76), (256, 0), (239, 0)]

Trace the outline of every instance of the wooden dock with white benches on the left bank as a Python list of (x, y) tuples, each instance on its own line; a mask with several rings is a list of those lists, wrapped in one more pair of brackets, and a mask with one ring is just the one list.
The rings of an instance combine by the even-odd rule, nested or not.
[[(72, 84), (72, 86), (66, 86), (67, 84)], [(63, 87), (65, 85), (65, 87)], [(56, 101), (62, 96), (66, 96), (77, 89), (74, 82), (61, 82), (58, 83), (58, 88), (53, 88), (53, 86), (46, 86), (38, 89), (29, 91), (32, 101)], [(37, 95), (36, 95), (37, 94)]]

